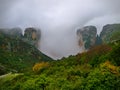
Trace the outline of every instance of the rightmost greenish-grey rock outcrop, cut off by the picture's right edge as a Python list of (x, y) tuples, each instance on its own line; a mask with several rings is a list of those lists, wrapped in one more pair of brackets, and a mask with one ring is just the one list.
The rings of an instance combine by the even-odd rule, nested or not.
[(105, 25), (100, 33), (103, 43), (109, 43), (114, 39), (120, 39), (120, 24)]

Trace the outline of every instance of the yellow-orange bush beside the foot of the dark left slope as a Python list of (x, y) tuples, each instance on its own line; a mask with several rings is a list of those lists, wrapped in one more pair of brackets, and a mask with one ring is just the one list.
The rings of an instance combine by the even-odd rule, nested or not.
[(34, 72), (40, 72), (40, 70), (44, 69), (44, 68), (47, 68), (49, 66), (49, 63), (48, 62), (41, 62), (41, 63), (36, 63), (32, 70)]

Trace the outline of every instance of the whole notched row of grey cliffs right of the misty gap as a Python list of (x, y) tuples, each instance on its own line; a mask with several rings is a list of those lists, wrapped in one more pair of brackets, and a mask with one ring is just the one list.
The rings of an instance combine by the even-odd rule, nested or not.
[(120, 24), (105, 25), (100, 35), (97, 35), (95, 26), (86, 26), (77, 30), (77, 36), (79, 46), (87, 50), (95, 45), (120, 40)]

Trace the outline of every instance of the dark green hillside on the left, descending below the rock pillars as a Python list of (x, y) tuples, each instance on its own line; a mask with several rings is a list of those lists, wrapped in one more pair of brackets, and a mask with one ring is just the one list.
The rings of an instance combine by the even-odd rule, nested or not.
[(22, 72), (36, 62), (49, 60), (52, 59), (41, 53), (35, 46), (0, 32), (1, 72)]

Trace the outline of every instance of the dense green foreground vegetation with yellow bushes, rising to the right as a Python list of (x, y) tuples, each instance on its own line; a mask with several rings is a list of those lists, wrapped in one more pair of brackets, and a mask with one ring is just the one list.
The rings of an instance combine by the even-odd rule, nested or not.
[(120, 90), (120, 42), (0, 78), (0, 90)]

